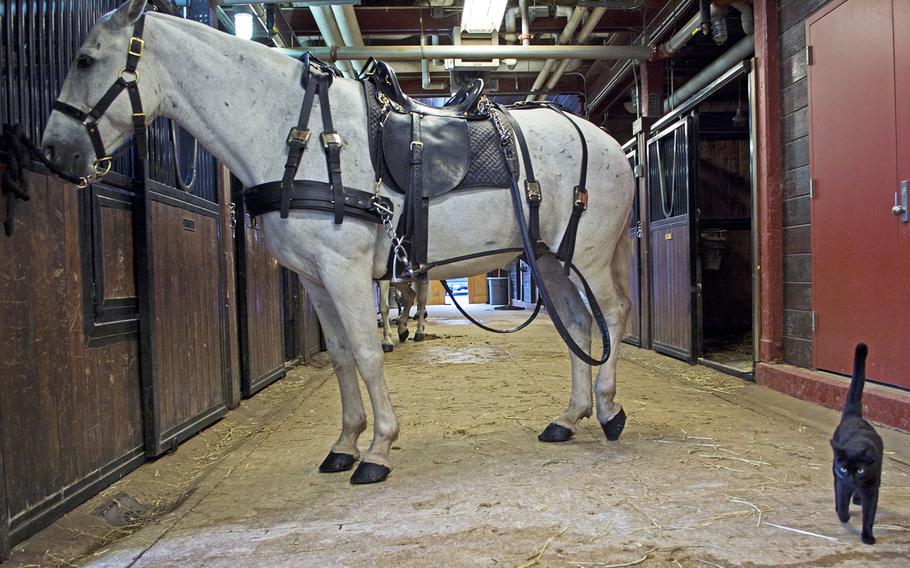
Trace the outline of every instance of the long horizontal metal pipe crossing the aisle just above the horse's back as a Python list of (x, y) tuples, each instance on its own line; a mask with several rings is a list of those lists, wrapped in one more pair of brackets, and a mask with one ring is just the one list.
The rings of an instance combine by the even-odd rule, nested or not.
[[(418, 59), (635, 59), (647, 61), (650, 47), (634, 45), (371, 45), (368, 47), (275, 48), (293, 57), (309, 51), (325, 61), (344, 61), (375, 57), (384, 61)], [(546, 68), (546, 65), (544, 65)]]

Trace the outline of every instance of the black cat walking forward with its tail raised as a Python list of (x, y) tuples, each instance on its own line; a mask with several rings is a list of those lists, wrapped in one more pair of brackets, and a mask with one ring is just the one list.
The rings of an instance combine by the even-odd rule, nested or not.
[(842, 523), (850, 520), (850, 499), (863, 508), (863, 542), (875, 544), (872, 524), (882, 481), (884, 444), (871, 424), (863, 419), (863, 384), (866, 382), (865, 344), (856, 346), (853, 379), (840, 424), (831, 438), (834, 449), (834, 510)]

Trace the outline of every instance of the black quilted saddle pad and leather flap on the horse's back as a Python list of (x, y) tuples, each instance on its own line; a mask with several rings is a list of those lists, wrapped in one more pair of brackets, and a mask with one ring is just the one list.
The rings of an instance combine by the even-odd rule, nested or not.
[[(382, 144), (382, 179), (395, 191), (404, 193), (408, 185), (408, 161), (411, 145), (411, 117), (392, 112), (379, 140), (382, 105), (376, 98), (376, 87), (364, 81), (370, 155), (377, 156)], [(502, 120), (506, 122), (503, 117)], [(506, 122), (508, 124), (508, 122)], [(508, 128), (508, 126), (507, 126)], [(421, 121), (424, 193), (442, 195), (452, 190), (479, 187), (509, 187), (509, 171), (499, 144), (496, 127), (490, 120), (463, 120), (425, 116)], [(516, 172), (517, 173), (517, 172)]]

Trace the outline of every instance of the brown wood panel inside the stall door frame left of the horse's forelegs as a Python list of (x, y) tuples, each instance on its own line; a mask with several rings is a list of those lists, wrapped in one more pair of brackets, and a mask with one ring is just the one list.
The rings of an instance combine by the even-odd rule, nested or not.
[(218, 219), (150, 205), (162, 436), (225, 405)]

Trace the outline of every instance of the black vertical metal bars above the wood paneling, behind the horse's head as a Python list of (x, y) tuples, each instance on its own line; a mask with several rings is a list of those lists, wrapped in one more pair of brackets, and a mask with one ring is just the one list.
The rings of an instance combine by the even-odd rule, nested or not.
[[(117, 8), (122, 0), (3, 0), (0, 4), (0, 122), (21, 124), (34, 141), (40, 141), (51, 106), (66, 79), (70, 63), (95, 22)], [(114, 78), (111, 78), (113, 81)], [(149, 128), (149, 177), (178, 187), (174, 151), (166, 119)], [(178, 128), (183, 178), (190, 178), (192, 138)], [(135, 152), (123, 152), (114, 170), (133, 175)], [(215, 159), (199, 146), (198, 174), (188, 193), (218, 201)]]

